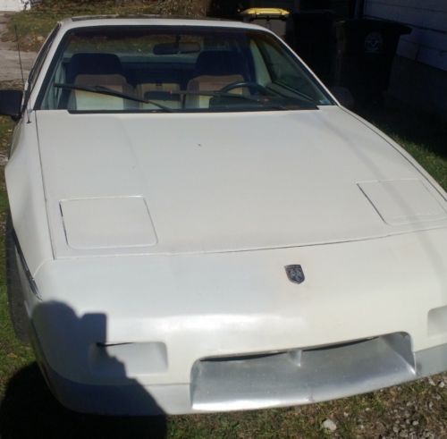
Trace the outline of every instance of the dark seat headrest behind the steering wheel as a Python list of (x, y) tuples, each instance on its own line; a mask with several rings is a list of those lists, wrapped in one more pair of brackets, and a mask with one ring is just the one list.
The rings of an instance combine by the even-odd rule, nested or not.
[(240, 56), (229, 50), (207, 50), (198, 55), (195, 76), (234, 75), (243, 76)]

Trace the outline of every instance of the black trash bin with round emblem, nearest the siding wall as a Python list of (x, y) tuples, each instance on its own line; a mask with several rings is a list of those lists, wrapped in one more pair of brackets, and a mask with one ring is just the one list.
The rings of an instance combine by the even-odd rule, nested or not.
[(411, 29), (392, 21), (357, 19), (335, 25), (333, 84), (350, 89), (356, 103), (380, 103), (388, 89), (399, 38)]

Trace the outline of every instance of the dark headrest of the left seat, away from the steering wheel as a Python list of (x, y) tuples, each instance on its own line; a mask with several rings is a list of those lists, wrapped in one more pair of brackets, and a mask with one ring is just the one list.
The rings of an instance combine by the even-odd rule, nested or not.
[(120, 58), (114, 54), (75, 54), (67, 69), (67, 82), (78, 75), (122, 75)]

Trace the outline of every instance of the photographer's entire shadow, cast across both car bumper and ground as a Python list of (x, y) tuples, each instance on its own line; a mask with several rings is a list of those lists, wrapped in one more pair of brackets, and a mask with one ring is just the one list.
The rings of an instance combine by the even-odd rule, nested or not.
[[(67, 305), (50, 302), (38, 305), (33, 312), (33, 322), (40, 325), (39, 336), (51, 336), (46, 348), (49, 346), (53, 350), (53, 359), (62, 363), (70, 362), (72, 355), (77, 355), (80, 364), (88, 366), (93, 341), (106, 342), (104, 314), (88, 314), (79, 318)], [(70, 340), (67, 340), (67, 334), (72, 335)], [(80, 344), (80, 340), (83, 343)], [(36, 343), (35, 340), (35, 346)], [(43, 370), (49, 377), (52, 391), (46, 385), (37, 363), (21, 368), (7, 384), (0, 405), (0, 437), (164, 438), (166, 418), (154, 398), (144, 386), (127, 376), (124, 365), (118, 359), (108, 356), (106, 364), (108, 374), (120, 383), (119, 386), (86, 385), (73, 393), (70, 386), (54, 385), (57, 374), (48, 373), (46, 367)], [(101, 389), (101, 392), (96, 389)], [(107, 413), (133, 413), (135, 406), (138, 413), (148, 408), (148, 413), (161, 414), (151, 417), (87, 415), (66, 409), (53, 393), (65, 402), (68, 399), (68, 403), (74, 403), (76, 407), (83, 404), (88, 412), (105, 412), (101, 411), (104, 406)]]

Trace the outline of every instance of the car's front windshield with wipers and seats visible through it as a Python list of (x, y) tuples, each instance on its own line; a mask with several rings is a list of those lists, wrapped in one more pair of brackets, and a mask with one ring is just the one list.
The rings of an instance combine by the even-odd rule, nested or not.
[(333, 105), (270, 34), (199, 26), (106, 26), (70, 31), (38, 109), (224, 112)]

